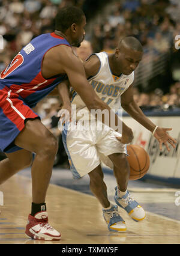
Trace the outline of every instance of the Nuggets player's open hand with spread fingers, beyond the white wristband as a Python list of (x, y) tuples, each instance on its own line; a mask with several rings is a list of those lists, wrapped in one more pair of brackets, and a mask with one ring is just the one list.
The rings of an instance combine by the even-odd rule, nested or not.
[(167, 142), (172, 145), (173, 148), (176, 147), (176, 140), (173, 139), (168, 133), (167, 130), (172, 130), (172, 128), (161, 128), (161, 127), (157, 127), (157, 129), (155, 130), (154, 133), (154, 137), (158, 140), (159, 142), (159, 146), (160, 146), (160, 150), (162, 150), (163, 148), (163, 144), (166, 146), (167, 150), (170, 151), (169, 145), (167, 144)]

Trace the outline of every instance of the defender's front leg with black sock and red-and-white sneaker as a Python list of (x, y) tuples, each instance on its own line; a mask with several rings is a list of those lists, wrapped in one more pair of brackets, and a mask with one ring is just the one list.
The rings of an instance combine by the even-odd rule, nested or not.
[(40, 120), (29, 120), (15, 139), (15, 144), (36, 154), (32, 164), (32, 212), (25, 234), (38, 240), (59, 240), (61, 234), (48, 224), (46, 192), (58, 143)]

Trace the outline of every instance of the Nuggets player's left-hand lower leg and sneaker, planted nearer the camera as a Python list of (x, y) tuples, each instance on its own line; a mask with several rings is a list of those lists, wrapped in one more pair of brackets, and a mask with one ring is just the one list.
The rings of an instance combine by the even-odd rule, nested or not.
[(107, 227), (111, 232), (123, 233), (126, 231), (124, 219), (118, 213), (118, 207), (111, 204), (107, 198), (107, 187), (103, 181), (103, 171), (98, 165), (93, 171), (89, 172), (90, 189), (103, 206), (103, 217)]

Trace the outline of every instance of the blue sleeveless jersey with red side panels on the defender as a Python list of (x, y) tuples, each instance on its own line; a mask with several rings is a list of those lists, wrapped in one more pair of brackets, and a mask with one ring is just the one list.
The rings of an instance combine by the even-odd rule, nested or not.
[(41, 74), (45, 53), (60, 44), (70, 46), (65, 38), (54, 32), (32, 39), (1, 72), (0, 90), (10, 90), (19, 94), (19, 99), (23, 99), (31, 108), (34, 107), (66, 78), (65, 75), (60, 75), (52, 79), (44, 79)]

